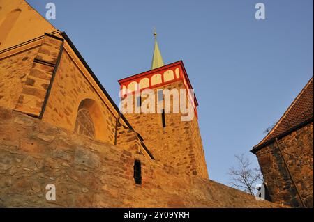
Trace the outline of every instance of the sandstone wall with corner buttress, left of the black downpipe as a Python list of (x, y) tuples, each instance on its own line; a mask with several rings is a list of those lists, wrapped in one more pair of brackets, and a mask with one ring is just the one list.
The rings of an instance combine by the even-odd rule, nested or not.
[(40, 116), (62, 40), (44, 35), (41, 45), (0, 60), (0, 105)]

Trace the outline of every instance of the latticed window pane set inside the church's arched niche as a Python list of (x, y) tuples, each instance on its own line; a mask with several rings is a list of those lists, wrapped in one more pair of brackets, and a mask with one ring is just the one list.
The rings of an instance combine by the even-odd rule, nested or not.
[(87, 109), (80, 109), (77, 112), (77, 118), (75, 122), (75, 132), (95, 138), (95, 126), (91, 119), (91, 115)]

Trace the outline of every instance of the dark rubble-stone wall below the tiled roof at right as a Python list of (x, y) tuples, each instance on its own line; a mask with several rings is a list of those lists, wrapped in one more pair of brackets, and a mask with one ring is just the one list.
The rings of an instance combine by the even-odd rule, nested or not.
[[(278, 140), (306, 207), (313, 207), (313, 122)], [(272, 201), (302, 207), (276, 143), (256, 152)]]

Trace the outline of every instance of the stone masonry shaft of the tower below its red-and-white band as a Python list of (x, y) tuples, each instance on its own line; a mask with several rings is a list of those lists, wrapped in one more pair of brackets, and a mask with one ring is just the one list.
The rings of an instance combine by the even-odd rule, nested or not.
[[(184, 89), (184, 84), (180, 80), (155, 88), (156, 104), (158, 101), (157, 90), (166, 88), (169, 90)], [(173, 100), (180, 102), (179, 97), (171, 97), (170, 104), (173, 104)], [(143, 98), (142, 104), (144, 101)], [(186, 101), (188, 100), (186, 99)], [(133, 100), (133, 107), (134, 102), (135, 100)], [(172, 111), (172, 106), (170, 106), (170, 110)], [(166, 113), (165, 128), (163, 128), (160, 113), (126, 113), (125, 116), (135, 131), (144, 138), (145, 145), (151, 150), (156, 160), (174, 166), (183, 173), (208, 178), (196, 116), (193, 120), (184, 122), (181, 121), (181, 113)]]

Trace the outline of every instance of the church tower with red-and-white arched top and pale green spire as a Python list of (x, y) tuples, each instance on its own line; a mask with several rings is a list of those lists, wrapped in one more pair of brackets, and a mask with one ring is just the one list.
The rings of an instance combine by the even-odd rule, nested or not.
[[(198, 103), (184, 63), (164, 65), (156, 32), (154, 37), (151, 70), (118, 81), (121, 110), (157, 161), (174, 166), (180, 173), (208, 178)], [(128, 104), (132, 109), (126, 112)]]

